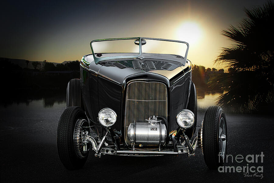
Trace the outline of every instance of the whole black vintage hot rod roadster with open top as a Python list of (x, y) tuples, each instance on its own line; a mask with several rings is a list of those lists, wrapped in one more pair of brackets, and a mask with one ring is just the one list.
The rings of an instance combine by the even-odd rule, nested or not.
[[(138, 37), (94, 40), (90, 46), (92, 54), (80, 61), (80, 79), (68, 83), (67, 108), (58, 124), (58, 154), (67, 169), (83, 167), (92, 150), (95, 157), (190, 157), (201, 148), (210, 169), (224, 163), (226, 116), (221, 107), (210, 106), (197, 126), (187, 42)], [(181, 46), (184, 54), (174, 54)], [(111, 49), (101, 51), (106, 47)]]

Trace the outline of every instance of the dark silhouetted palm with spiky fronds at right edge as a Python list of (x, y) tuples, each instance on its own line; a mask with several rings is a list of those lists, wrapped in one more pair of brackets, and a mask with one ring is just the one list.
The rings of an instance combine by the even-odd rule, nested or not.
[(248, 18), (238, 27), (222, 31), (234, 44), (222, 48), (214, 61), (224, 64), (229, 73), (213, 75), (209, 83), (225, 91), (217, 104), (234, 112), (262, 112), (274, 102), (274, 3), (269, 1), (244, 12)]

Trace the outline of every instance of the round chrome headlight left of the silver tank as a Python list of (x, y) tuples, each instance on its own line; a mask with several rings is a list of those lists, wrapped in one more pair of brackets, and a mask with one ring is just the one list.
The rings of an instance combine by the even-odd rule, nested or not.
[(116, 122), (117, 115), (114, 110), (110, 108), (104, 108), (100, 110), (98, 114), (98, 120), (104, 127), (111, 127)]

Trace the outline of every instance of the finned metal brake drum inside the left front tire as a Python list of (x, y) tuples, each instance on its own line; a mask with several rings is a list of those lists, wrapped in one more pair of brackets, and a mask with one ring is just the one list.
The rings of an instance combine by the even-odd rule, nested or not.
[(84, 158), (87, 156), (87, 152), (89, 151), (90, 145), (87, 144), (87, 151), (83, 150), (83, 131), (85, 131), (84, 127), (88, 127), (89, 123), (85, 119), (78, 119), (75, 128), (74, 128), (74, 147), (76, 151), (76, 155), (79, 158)]

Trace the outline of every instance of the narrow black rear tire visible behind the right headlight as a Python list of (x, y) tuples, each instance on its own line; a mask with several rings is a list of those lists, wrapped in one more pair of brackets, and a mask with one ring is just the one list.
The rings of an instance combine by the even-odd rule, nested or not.
[(185, 131), (185, 134), (188, 136), (189, 139), (191, 139), (193, 134), (195, 134), (197, 125), (197, 94), (195, 84), (192, 81), (187, 109), (191, 110), (195, 116), (193, 126)]

